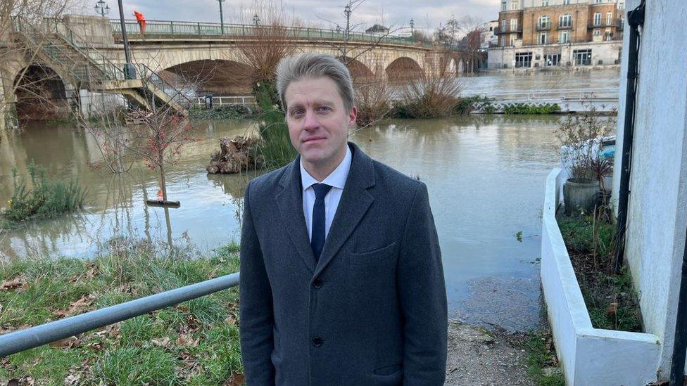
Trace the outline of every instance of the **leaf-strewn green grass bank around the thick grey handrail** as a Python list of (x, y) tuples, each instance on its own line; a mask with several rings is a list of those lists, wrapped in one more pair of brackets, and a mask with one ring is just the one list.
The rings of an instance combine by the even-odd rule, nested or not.
[[(0, 333), (231, 274), (237, 245), (201, 259), (111, 240), (93, 260), (0, 265)], [(41, 385), (239, 384), (238, 289), (184, 302), (0, 361), (0, 382)]]

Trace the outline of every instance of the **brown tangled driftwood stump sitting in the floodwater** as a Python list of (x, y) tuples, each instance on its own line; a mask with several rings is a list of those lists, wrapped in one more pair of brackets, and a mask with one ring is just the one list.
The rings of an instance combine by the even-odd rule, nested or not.
[(222, 137), (220, 151), (213, 153), (208, 173), (234, 174), (242, 170), (256, 169), (262, 165), (257, 156), (258, 137), (235, 136), (233, 139)]

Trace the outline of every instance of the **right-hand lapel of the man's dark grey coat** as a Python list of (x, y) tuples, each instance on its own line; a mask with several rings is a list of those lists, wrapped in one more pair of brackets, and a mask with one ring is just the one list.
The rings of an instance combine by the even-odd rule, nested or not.
[[(346, 184), (343, 186), (343, 193), (341, 194), (339, 206), (336, 208), (336, 214), (334, 214), (332, 227), (329, 229), (329, 233), (327, 233), (327, 239), (324, 240), (324, 249), (315, 267), (313, 280), (332, 261), (336, 252), (339, 252), (343, 243), (348, 240), (348, 236), (351, 236), (351, 233), (353, 233), (353, 230), (358, 226), (358, 223), (363, 219), (367, 209), (374, 201), (370, 192), (367, 191), (367, 188), (374, 186), (372, 159), (367, 157), (363, 150), (360, 150), (354, 143), (349, 142), (348, 144), (351, 146), (353, 153), (351, 169), (348, 171)], [(301, 200), (298, 202), (302, 202), (302, 200), (301, 195)], [(303, 219), (302, 212), (301, 204), (301, 219)], [(308, 240), (307, 232), (305, 233), (305, 240)], [(313, 256), (312, 251), (310, 256)]]

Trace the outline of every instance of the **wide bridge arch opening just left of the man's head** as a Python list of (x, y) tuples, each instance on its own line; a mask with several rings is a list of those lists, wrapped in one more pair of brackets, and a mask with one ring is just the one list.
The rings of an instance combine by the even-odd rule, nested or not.
[(225, 59), (201, 59), (165, 68), (160, 74), (177, 89), (198, 95), (245, 95), (251, 92), (251, 67)]

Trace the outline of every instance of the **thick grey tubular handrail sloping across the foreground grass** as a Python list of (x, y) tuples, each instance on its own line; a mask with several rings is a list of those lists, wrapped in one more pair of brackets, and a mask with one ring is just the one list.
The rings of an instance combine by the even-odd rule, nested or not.
[(220, 276), (175, 290), (0, 335), (0, 357), (47, 345), (50, 342), (109, 326), (151, 311), (239, 285), (239, 273)]

